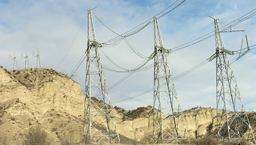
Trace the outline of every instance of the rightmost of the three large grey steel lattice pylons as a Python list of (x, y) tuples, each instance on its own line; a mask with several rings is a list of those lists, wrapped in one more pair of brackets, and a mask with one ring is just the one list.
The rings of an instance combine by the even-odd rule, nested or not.
[[(213, 18), (214, 19), (214, 18)], [(256, 144), (245, 106), (225, 49), (218, 19), (214, 19), (216, 47), (217, 139)], [(234, 31), (235, 32), (235, 31)]]

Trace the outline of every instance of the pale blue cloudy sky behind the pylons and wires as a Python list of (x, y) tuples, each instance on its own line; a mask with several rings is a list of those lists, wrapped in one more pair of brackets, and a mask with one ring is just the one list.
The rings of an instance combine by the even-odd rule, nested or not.
[[(181, 1), (181, 0), (180, 0)], [(99, 1), (0, 1), (0, 65), (12, 69), (9, 54), (16, 51), (18, 68), (24, 68), (24, 59), (20, 53), (29, 53), (30, 63), (35, 67), (36, 59), (32, 52), (40, 50), (44, 67), (57, 69), (61, 60), (69, 50), (72, 41), (78, 33), (87, 9), (95, 7)], [(105, 0), (96, 9), (96, 15), (101, 21), (117, 33), (123, 33), (134, 26), (152, 18), (174, 1), (121, 1)], [(159, 20), (165, 48), (173, 48), (184, 44), (190, 38), (197, 38), (214, 31), (213, 20), (208, 16), (220, 19), (220, 25), (225, 25), (244, 15), (255, 7), (254, 1), (189, 1)], [(99, 42), (109, 40), (116, 35), (107, 30), (94, 17), (96, 37)], [(86, 49), (87, 20), (82, 25), (67, 57), (61, 63), (58, 71), (70, 73)], [(249, 45), (256, 44), (255, 17), (234, 27), (246, 29)], [(200, 32), (200, 33), (199, 33)], [(223, 34), (225, 46), (229, 50), (237, 50), (241, 45), (241, 33)], [(142, 32), (127, 38), (131, 44), (144, 55), (153, 51), (153, 25), (150, 24)], [(206, 60), (214, 53), (214, 37), (196, 45), (174, 52), (168, 57), (173, 77)], [(114, 48), (104, 48), (103, 51), (119, 65), (132, 69), (142, 59), (137, 57), (122, 41)], [(240, 89), (246, 109), (256, 111), (256, 51), (233, 64), (234, 74)], [(231, 59), (233, 57), (231, 56)], [(101, 53), (104, 65), (116, 68)], [(9, 61), (9, 62), (8, 62)], [(6, 63), (7, 62), (7, 63)], [(152, 63), (152, 61), (150, 61)], [(74, 78), (84, 88), (85, 63)], [(105, 70), (108, 86), (111, 86), (125, 74)], [(182, 109), (195, 106), (216, 106), (215, 64), (210, 62), (175, 81), (176, 90)], [(136, 72), (129, 79), (110, 90), (112, 101), (121, 100), (125, 96), (134, 96), (153, 87), (153, 70)], [(140, 106), (152, 105), (153, 93), (123, 101), (113, 106), (124, 109), (135, 109)]]

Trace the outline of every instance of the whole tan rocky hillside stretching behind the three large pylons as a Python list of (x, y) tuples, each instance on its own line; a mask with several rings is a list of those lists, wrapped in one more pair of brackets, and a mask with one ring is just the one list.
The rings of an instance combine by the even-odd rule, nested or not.
[[(120, 139), (151, 142), (152, 107), (126, 111), (114, 107)], [(21, 144), (31, 126), (40, 125), (52, 144), (80, 142), (84, 93), (80, 85), (53, 69), (4, 70), (0, 68), (0, 144)], [(254, 133), (256, 113), (249, 113)], [(184, 111), (189, 136), (215, 136), (216, 110), (196, 107)], [(99, 124), (100, 125), (100, 124)]]

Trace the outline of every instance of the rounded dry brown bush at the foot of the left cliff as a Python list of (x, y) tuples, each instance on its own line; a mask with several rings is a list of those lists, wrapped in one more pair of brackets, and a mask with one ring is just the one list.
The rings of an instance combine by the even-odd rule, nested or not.
[(31, 127), (23, 136), (23, 145), (50, 144), (47, 133), (40, 126)]

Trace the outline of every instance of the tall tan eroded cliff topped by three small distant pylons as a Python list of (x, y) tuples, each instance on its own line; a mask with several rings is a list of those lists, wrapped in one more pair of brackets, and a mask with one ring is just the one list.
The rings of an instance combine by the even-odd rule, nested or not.
[(21, 135), (36, 124), (53, 144), (71, 134), (80, 138), (84, 94), (68, 76), (49, 68), (0, 68), (0, 98), (2, 143), (20, 144)]

